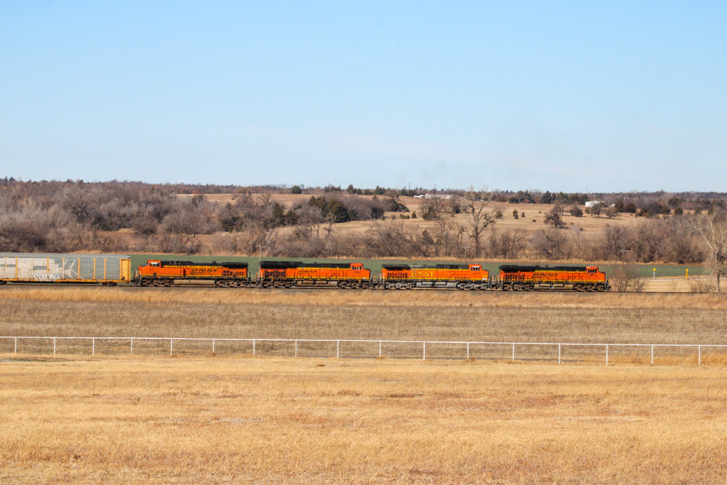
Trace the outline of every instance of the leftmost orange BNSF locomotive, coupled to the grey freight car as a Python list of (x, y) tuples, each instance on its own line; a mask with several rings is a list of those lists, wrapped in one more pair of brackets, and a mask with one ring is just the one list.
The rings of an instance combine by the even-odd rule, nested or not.
[(148, 260), (139, 266), (133, 283), (172, 286), (180, 280), (214, 281), (214, 286), (247, 286), (247, 263)]

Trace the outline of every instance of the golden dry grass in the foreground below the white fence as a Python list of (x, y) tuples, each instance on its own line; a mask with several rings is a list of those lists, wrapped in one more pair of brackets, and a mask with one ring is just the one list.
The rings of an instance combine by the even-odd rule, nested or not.
[(717, 484), (727, 369), (0, 362), (2, 483)]

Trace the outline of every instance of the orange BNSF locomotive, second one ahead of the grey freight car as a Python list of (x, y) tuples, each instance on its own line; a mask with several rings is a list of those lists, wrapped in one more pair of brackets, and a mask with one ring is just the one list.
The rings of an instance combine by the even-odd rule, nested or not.
[(334, 286), (369, 288), (371, 271), (362, 262), (262, 261), (257, 285), (290, 288), (292, 286)]

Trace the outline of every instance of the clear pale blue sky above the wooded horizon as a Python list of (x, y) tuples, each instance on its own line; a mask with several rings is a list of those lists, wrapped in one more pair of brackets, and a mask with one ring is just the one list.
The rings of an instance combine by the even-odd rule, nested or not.
[(724, 1), (0, 2), (0, 177), (727, 191), (726, 155)]

